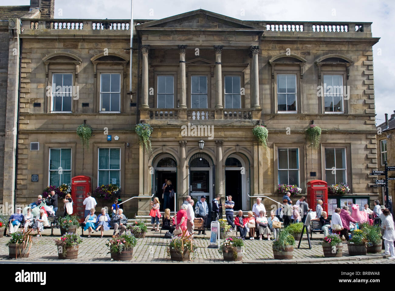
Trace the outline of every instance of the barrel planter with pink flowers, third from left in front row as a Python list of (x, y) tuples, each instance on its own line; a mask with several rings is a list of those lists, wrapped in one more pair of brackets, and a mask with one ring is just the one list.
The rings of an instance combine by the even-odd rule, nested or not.
[(125, 232), (121, 236), (111, 238), (105, 244), (111, 253), (113, 261), (129, 261), (133, 259), (133, 248), (136, 246), (137, 240), (130, 232)]

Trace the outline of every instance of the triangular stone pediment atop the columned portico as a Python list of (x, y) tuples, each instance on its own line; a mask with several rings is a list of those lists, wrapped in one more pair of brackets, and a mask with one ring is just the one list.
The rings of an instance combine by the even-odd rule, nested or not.
[(259, 29), (263, 27), (228, 17), (211, 11), (199, 9), (179, 15), (166, 17), (136, 25), (136, 29), (144, 28), (180, 28), (180, 29)]

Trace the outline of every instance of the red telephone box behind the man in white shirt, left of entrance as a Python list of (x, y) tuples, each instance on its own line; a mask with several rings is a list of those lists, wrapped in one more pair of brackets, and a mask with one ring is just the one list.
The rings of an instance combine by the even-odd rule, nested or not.
[(77, 213), (79, 218), (83, 219), (85, 205), (85, 198), (87, 193), (91, 192), (90, 177), (88, 176), (75, 176), (71, 178), (71, 199), (73, 199), (73, 213)]

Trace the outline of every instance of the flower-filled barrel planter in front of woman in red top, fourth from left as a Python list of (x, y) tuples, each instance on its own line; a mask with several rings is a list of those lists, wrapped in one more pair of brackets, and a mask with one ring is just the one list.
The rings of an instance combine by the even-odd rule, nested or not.
[(194, 251), (196, 246), (191, 235), (186, 235), (186, 230), (182, 230), (180, 236), (174, 236), (170, 243), (166, 244), (167, 257), (170, 257), (171, 261), (191, 261)]

